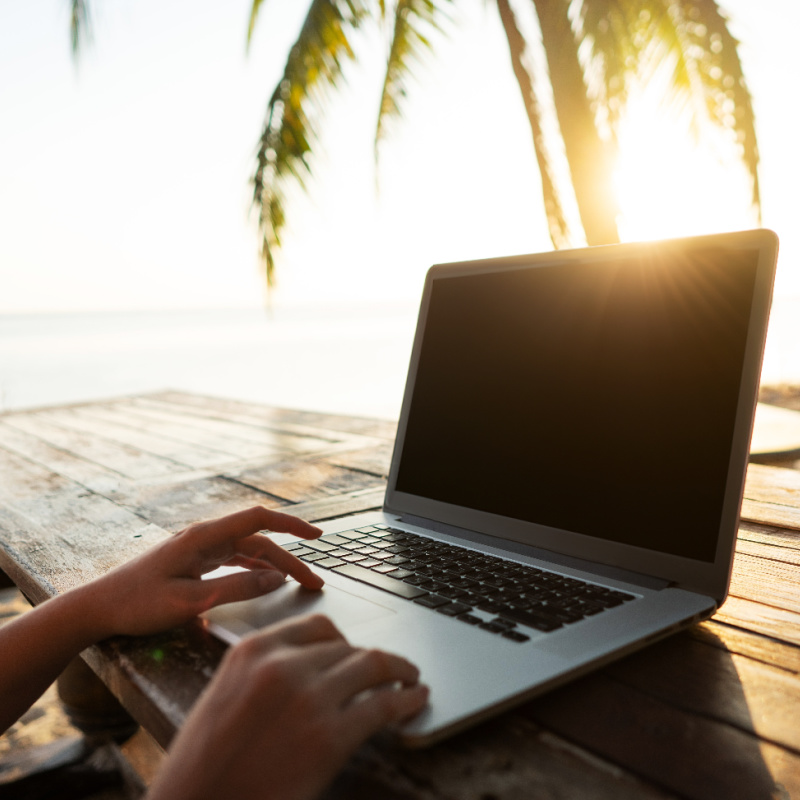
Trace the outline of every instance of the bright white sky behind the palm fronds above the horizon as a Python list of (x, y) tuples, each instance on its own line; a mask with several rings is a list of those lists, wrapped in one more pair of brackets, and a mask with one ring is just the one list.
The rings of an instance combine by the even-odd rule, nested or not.
[[(95, 0), (94, 43), (76, 69), (67, 0), (0, 4), (0, 312), (262, 302), (248, 179), (307, 4), (265, 3), (246, 55), (249, 5)], [(459, 27), (418, 69), (377, 195), (380, 64), (351, 71), (312, 192), (289, 209), (277, 302), (416, 298), (437, 261), (549, 249), (497, 13), (455, 5)], [(777, 290), (800, 296), (789, 69), (800, 5), (723, 6), (755, 97), (763, 223), (782, 240)], [(652, 120), (643, 102), (626, 134), (627, 236), (753, 226), (735, 171)], [(687, 196), (698, 174), (706, 189)]]

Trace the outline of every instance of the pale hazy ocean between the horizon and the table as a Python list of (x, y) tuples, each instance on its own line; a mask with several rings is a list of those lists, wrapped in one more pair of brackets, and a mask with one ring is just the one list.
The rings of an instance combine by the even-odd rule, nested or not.
[[(179, 389), (396, 419), (412, 302), (0, 315), (0, 411)], [(800, 384), (800, 298), (773, 305), (762, 383)]]

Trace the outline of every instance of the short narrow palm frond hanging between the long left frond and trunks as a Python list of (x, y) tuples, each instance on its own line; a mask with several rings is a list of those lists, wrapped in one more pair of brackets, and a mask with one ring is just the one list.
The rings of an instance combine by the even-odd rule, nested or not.
[[(401, 116), (401, 105), (407, 93), (407, 78), (412, 66), (418, 63), (425, 51), (431, 49), (430, 33), (444, 30), (450, 21), (446, 7), (452, 0), (397, 0), (394, 8), (394, 29), (386, 75), (378, 108), (375, 128), (375, 160), (378, 160), (380, 142), (386, 136), (387, 123)], [(386, 7), (381, 1), (381, 15)]]

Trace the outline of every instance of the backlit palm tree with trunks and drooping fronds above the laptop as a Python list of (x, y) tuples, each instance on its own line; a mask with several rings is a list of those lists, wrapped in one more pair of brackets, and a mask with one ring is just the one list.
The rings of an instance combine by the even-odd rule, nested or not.
[[(85, 0), (71, 2), (77, 46), (87, 27), (86, 5)], [(432, 47), (435, 34), (449, 27), (456, 2), (309, 0), (267, 105), (252, 178), (269, 285), (286, 221), (287, 188), (292, 183), (305, 187), (327, 101), (341, 83), (344, 63), (356, 59), (355, 32), (372, 25), (390, 34), (375, 131), (377, 160), (388, 123), (401, 116), (412, 67)], [(248, 45), (262, 5), (263, 0), (253, 0)], [(681, 104), (698, 134), (710, 123), (735, 141), (750, 175), (751, 201), (760, 212), (752, 101), (738, 43), (716, 0), (494, 0), (494, 5), (527, 112), (555, 247), (618, 241), (612, 189), (617, 134), (631, 89), (646, 85), (660, 70), (670, 72), (671, 96), (665, 101)], [(541, 42), (525, 37), (520, 14), (535, 18)], [(542, 59), (531, 58), (536, 47), (546, 70), (538, 66)], [(548, 84), (549, 93), (544, 91)], [(559, 141), (545, 133), (547, 114), (557, 120)], [(556, 169), (561, 153), (567, 180)], [(571, 202), (579, 223), (565, 213)]]

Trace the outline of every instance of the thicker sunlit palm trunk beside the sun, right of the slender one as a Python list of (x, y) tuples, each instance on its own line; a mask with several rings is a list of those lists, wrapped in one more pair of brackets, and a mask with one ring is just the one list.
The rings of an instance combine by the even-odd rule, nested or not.
[(542, 31), (556, 116), (578, 210), (590, 245), (619, 241), (619, 207), (612, 184), (611, 147), (597, 130), (567, 0), (533, 0)]

